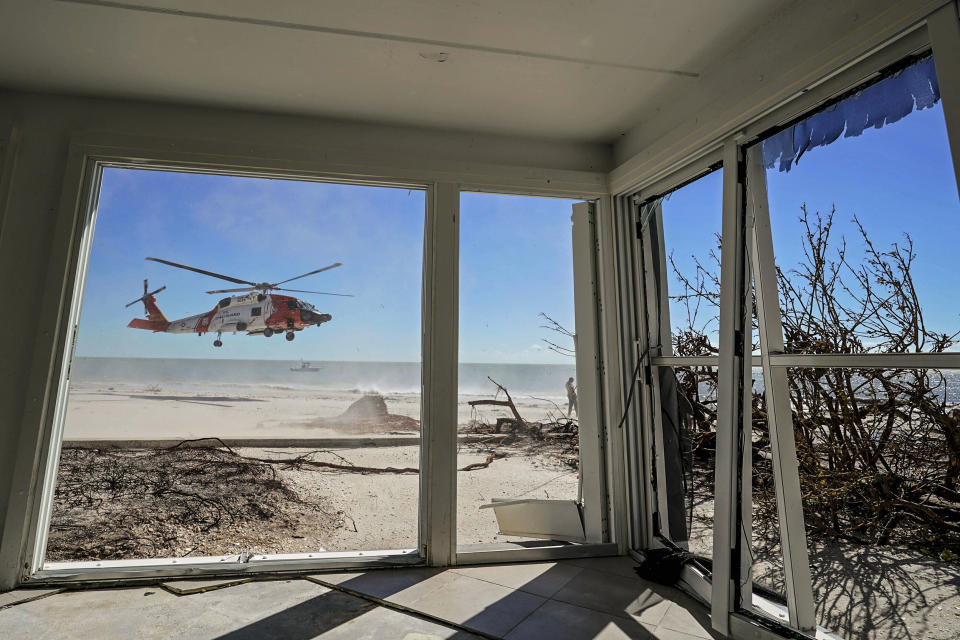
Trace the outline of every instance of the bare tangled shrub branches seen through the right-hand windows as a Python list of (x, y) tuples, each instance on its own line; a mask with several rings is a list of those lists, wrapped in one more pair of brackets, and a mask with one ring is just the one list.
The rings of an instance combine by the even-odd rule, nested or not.
[[(863, 246), (855, 258), (846, 239), (834, 237), (835, 215), (801, 208), (802, 258), (778, 270), (786, 351), (940, 353), (955, 345), (958, 333), (927, 325), (911, 274), (917, 256), (910, 236), (880, 249), (853, 217)], [(683, 289), (674, 299), (689, 309), (686, 326), (674, 331), (674, 350), (715, 354), (705, 327), (716, 320), (716, 265), (697, 262), (690, 277), (673, 266)], [(694, 452), (712, 455), (716, 371), (677, 373), (699, 434)], [(811, 539), (960, 548), (960, 409), (952, 407), (948, 377), (933, 370), (796, 368), (788, 381)], [(776, 507), (760, 389), (753, 394), (752, 442), (755, 526), (762, 533), (775, 530)]]

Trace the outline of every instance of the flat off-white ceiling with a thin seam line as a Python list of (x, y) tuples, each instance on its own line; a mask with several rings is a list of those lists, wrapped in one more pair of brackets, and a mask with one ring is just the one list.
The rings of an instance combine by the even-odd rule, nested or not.
[(0, 0), (0, 86), (609, 143), (790, 0)]

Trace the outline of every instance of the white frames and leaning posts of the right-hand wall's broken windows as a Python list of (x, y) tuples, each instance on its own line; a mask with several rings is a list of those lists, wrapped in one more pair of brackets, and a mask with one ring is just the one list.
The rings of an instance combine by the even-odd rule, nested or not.
[[(960, 17), (955, 3), (949, 3), (891, 41), (863, 53), (776, 107), (746, 124), (739, 125), (738, 128), (719, 134), (715, 142), (692, 151), (685, 160), (672, 165), (649, 165), (647, 177), (641, 177), (631, 188), (620, 190), (614, 195), (618, 266), (632, 274), (632, 282), (626, 277), (618, 279), (618, 324), (620, 342), (625, 354), (620, 367), (621, 397), (628, 396), (628, 389), (633, 383), (638, 384), (638, 391), (640, 390), (642, 385), (636, 378), (644, 366), (651, 369), (658, 366), (720, 368), (712, 579), (708, 580), (703, 572), (687, 565), (684, 567), (680, 585), (711, 607), (713, 628), (720, 633), (737, 632), (751, 637), (787, 635), (798, 638), (825, 635), (824, 630), (816, 628), (813, 612), (815, 603), (810, 592), (796, 451), (795, 447), (791, 446), (792, 430), (786, 428), (789, 422), (783, 424), (784, 416), (776, 418), (770, 428), (771, 431), (776, 430), (780, 436), (774, 455), (781, 467), (781, 477), (776, 482), (778, 494), (782, 494), (778, 495), (778, 502), (786, 505), (779, 509), (778, 515), (781, 529), (786, 527), (789, 530), (789, 542), (784, 541), (784, 550), (785, 555), (791, 555), (791, 568), (787, 573), (790, 605), (781, 607), (753, 593), (749, 580), (740, 581), (738, 584), (737, 577), (749, 576), (751, 567), (749, 554), (744, 549), (750, 544), (750, 534), (743, 529), (738, 532), (738, 518), (735, 517), (740, 514), (747, 523), (752, 518), (749, 448), (743, 452), (741, 459), (737, 446), (737, 437), (742, 436), (750, 419), (749, 389), (744, 388), (743, 381), (749, 383), (751, 368), (763, 367), (765, 379), (768, 374), (785, 374), (787, 367), (960, 368), (960, 353), (784, 354), (769, 348), (771, 339), (776, 337), (778, 330), (782, 336), (779, 308), (773, 306), (777, 304), (777, 291), (776, 280), (771, 280), (774, 268), (772, 240), (769, 236), (769, 217), (759, 221), (747, 219), (745, 189), (750, 168), (745, 162), (746, 149), (772, 130), (806, 118), (836, 96), (869, 83), (888, 66), (931, 49), (936, 57), (941, 101), (960, 188)], [(650, 355), (644, 359), (641, 356), (646, 353), (649, 340), (645, 335), (643, 319), (638, 314), (640, 309), (648, 306), (649, 301), (643, 293), (643, 270), (638, 262), (639, 250), (634, 246), (637, 242), (635, 226), (639, 224), (639, 204), (657, 194), (674, 190), (681, 186), (684, 180), (697, 176), (711, 158), (722, 159), (723, 164), (723, 237), (735, 239), (735, 242), (725, 242), (721, 249), (720, 354), (717, 357), (678, 357), (662, 354)], [(762, 284), (771, 281), (774, 283), (772, 292), (769, 285), (764, 288)], [(751, 282), (760, 283), (757, 285), (759, 290), (756, 294), (758, 299), (762, 296), (765, 301), (766, 321), (761, 326), (761, 337), (762, 343), (767, 346), (761, 348), (759, 355), (750, 354), (744, 346), (744, 336), (750, 335), (751, 326), (750, 310), (745, 304)], [(746, 344), (749, 345), (748, 342)], [(742, 355), (744, 352), (749, 355)], [(784, 405), (783, 383), (770, 385), (771, 389), (773, 387), (780, 388), (776, 391), (776, 404)], [(654, 468), (651, 450), (655, 446), (656, 438), (653, 425), (650, 421), (645, 424), (645, 418), (641, 415), (644, 412), (643, 406), (653, 402), (653, 399), (648, 397), (649, 394), (639, 395), (639, 400), (634, 400), (634, 406), (625, 415), (625, 430), (635, 433), (630, 433), (627, 439), (624, 466), (629, 472), (627, 495), (631, 553), (638, 560), (642, 560), (643, 549), (656, 548), (662, 546), (662, 543), (653, 535), (653, 513), (657, 509), (657, 494), (652, 487), (650, 473)], [(789, 411), (789, 405), (784, 406), (786, 411)], [(723, 422), (738, 426), (721, 429), (719, 423)], [(792, 477), (784, 480), (787, 476)], [(746, 481), (741, 482), (741, 478)], [(741, 488), (744, 490), (742, 493)], [(786, 619), (789, 609), (790, 621), (778, 623), (772, 618), (761, 617), (741, 608), (740, 602), (752, 602), (762, 606), (782, 619)]]

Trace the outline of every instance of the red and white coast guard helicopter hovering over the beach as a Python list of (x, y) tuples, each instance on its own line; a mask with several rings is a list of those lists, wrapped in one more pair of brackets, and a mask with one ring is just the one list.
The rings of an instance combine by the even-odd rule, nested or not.
[(214, 347), (222, 347), (223, 341), (220, 339), (225, 332), (236, 334), (237, 331), (246, 331), (247, 335), (271, 337), (285, 333), (287, 341), (296, 337), (297, 331), (303, 331), (310, 326), (320, 326), (324, 322), (329, 322), (333, 317), (329, 313), (320, 313), (309, 302), (304, 302), (293, 296), (287, 296), (273, 291), (291, 291), (294, 293), (314, 293), (324, 296), (341, 296), (352, 298), (350, 294), (328, 293), (324, 291), (304, 291), (303, 289), (287, 289), (280, 285), (306, 278), (316, 273), (328, 271), (342, 266), (342, 263), (335, 262), (320, 269), (314, 269), (303, 275), (294, 278), (288, 278), (281, 282), (250, 282), (239, 278), (232, 278), (221, 273), (198, 269), (177, 262), (170, 262), (161, 258), (146, 258), (153, 262), (186, 269), (227, 282), (247, 285), (237, 289), (215, 289), (207, 291), (210, 294), (216, 293), (244, 293), (244, 295), (235, 295), (223, 298), (217, 305), (205, 313), (180, 318), (179, 320), (167, 320), (163, 312), (157, 306), (156, 295), (166, 289), (166, 286), (160, 287), (155, 291), (149, 291), (147, 280), (143, 281), (143, 295), (127, 304), (127, 307), (142, 302), (146, 310), (146, 318), (134, 318), (127, 325), (131, 329), (145, 329), (154, 333), (196, 333), (203, 335), (205, 333), (217, 334), (217, 339), (213, 341)]

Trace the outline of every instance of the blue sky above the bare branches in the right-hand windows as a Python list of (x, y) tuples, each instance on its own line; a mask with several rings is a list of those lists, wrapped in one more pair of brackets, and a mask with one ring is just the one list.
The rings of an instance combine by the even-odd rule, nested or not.
[[(957, 281), (960, 200), (947, 141), (943, 110), (915, 111), (881, 129), (841, 137), (807, 151), (790, 171), (767, 170), (774, 255), (782, 269), (802, 258), (800, 207), (812, 215), (836, 208), (834, 236), (844, 236), (848, 257), (858, 263), (864, 243), (851, 222), (857, 215), (874, 244), (887, 249), (909, 233), (917, 259), (912, 274), (928, 328), (960, 329)], [(721, 172), (674, 192), (663, 203), (664, 241), (682, 270), (692, 270), (692, 255), (716, 249), (721, 223)], [(676, 279), (671, 293), (680, 290)], [(946, 295), (945, 295), (946, 294)], [(671, 325), (685, 319), (671, 303)]]

